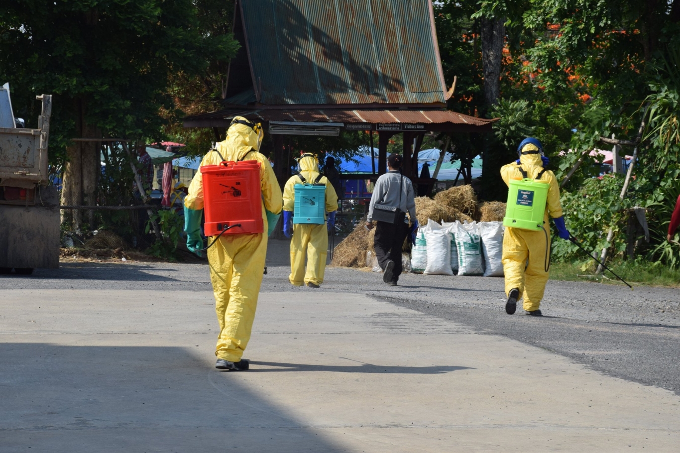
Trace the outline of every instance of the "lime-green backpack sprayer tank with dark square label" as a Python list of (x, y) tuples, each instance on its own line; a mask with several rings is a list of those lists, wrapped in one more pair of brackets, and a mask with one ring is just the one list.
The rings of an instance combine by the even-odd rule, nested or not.
[(543, 216), (550, 185), (547, 181), (539, 180), (543, 171), (536, 180), (526, 178), (523, 169), (520, 171), (524, 178), (513, 178), (508, 184), (508, 201), (503, 226), (539, 231), (543, 229)]

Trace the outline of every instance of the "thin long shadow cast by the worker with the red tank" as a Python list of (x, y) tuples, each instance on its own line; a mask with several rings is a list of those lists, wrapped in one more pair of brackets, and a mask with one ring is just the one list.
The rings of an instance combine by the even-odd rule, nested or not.
[[(340, 357), (344, 358), (344, 357)], [(347, 358), (346, 360), (352, 360)], [(353, 360), (354, 361), (354, 360)], [(255, 368), (251, 372), (271, 373), (278, 371), (328, 371), (330, 373), (379, 373), (379, 374), (443, 374), (462, 369), (473, 369), (470, 367), (456, 367), (452, 365), (432, 365), (431, 367), (405, 367), (373, 365), (371, 363), (360, 363), (359, 365), (306, 365), (301, 363), (278, 363), (278, 362), (254, 362), (252, 365), (262, 365), (265, 367), (276, 367), (275, 369)]]

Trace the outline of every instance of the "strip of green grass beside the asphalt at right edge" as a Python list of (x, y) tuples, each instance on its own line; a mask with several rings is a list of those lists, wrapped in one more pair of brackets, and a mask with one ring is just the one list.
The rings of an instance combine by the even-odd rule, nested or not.
[[(613, 261), (607, 263), (607, 267), (632, 286), (680, 287), (680, 270), (669, 269), (658, 263), (649, 263), (642, 260)], [(595, 275), (596, 268), (597, 263), (593, 260), (552, 263), (550, 266), (550, 279), (623, 285), (622, 282), (607, 270), (600, 275)]]

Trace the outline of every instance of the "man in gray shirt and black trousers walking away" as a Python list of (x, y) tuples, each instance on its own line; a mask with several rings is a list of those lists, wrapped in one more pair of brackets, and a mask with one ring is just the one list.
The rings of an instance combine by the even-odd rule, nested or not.
[[(366, 227), (372, 229), (375, 224), (375, 239), (373, 247), (375, 256), (380, 267), (384, 270), (383, 281), (392, 286), (396, 286), (401, 275), (401, 248), (404, 239), (409, 234), (409, 218), (412, 228), (418, 226), (415, 220), (415, 199), (413, 195), (413, 184), (409, 178), (404, 178), (401, 174), (401, 156), (390, 154), (387, 159), (388, 173), (381, 175), (375, 182), (371, 205), (369, 206), (369, 216)], [(375, 204), (398, 207), (401, 215), (397, 216), (394, 223), (373, 221)], [(405, 213), (409, 214), (406, 218)]]

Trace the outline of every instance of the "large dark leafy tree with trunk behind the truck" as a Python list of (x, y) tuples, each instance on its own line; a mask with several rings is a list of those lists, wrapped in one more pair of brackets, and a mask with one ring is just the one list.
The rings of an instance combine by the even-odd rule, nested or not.
[[(0, 17), (0, 76), (18, 114), (36, 118), (35, 94), (54, 95), (50, 161), (65, 162), (63, 195), (95, 204), (99, 146), (73, 137), (160, 137), (179, 114), (169, 78), (228, 61), (237, 44), (208, 33), (191, 0), (10, 0)], [(165, 112), (165, 118), (161, 113)], [(84, 195), (84, 199), (81, 198)]]

